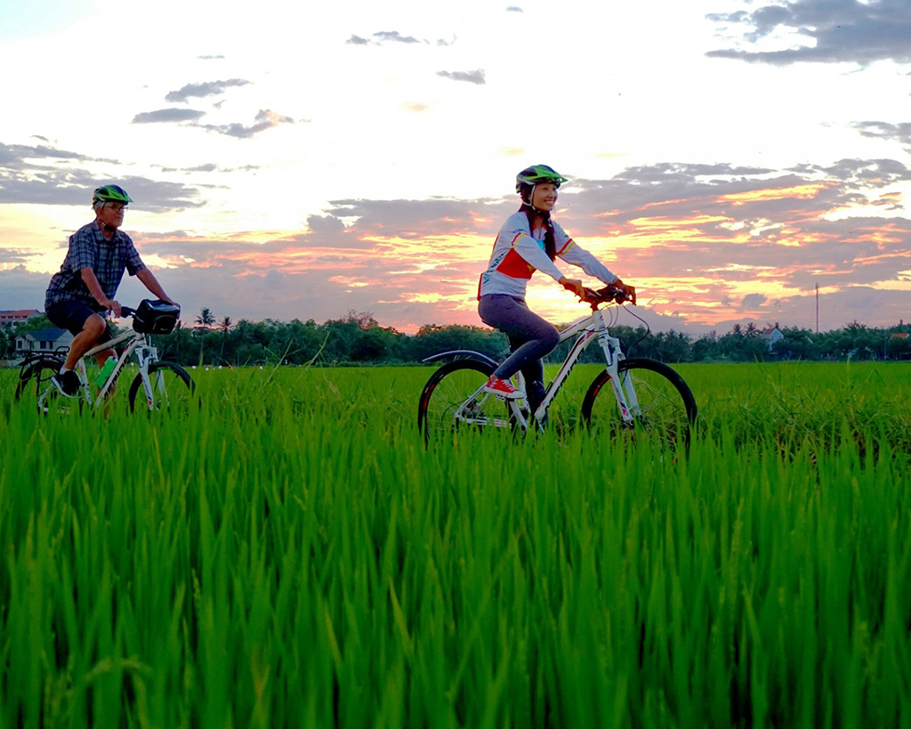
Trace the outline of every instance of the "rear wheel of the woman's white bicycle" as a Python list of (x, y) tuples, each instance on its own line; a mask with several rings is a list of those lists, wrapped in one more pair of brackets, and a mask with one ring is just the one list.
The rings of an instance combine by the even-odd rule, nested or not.
[(463, 426), (510, 427), (509, 406), (496, 395), (466, 403), (493, 372), (492, 364), (466, 359), (448, 362), (430, 375), (417, 404), (417, 426), (426, 441)]

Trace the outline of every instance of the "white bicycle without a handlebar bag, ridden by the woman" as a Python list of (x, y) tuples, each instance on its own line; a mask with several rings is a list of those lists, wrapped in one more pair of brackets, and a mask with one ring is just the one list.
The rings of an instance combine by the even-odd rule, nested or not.
[[(597, 342), (604, 354), (604, 369), (589, 385), (581, 407), (582, 421), (589, 429), (611, 436), (628, 432), (658, 438), (667, 445), (688, 446), (697, 415), (690, 387), (667, 364), (647, 358), (627, 359), (619, 339), (610, 335), (609, 314), (601, 307), (624, 303), (624, 293), (614, 286), (599, 291), (586, 289), (582, 301), (589, 303), (591, 313), (560, 332), (560, 342), (577, 339), (534, 413), (529, 412), (524, 400), (505, 400), (485, 391), (487, 378), (498, 364), (486, 354), (454, 350), (427, 357), (425, 362), (451, 361), (430, 376), (421, 393), (417, 424), (425, 439), (462, 427), (543, 430), (548, 409), (579, 357), (589, 344)], [(524, 389), (521, 373), (516, 379), (517, 386)]]

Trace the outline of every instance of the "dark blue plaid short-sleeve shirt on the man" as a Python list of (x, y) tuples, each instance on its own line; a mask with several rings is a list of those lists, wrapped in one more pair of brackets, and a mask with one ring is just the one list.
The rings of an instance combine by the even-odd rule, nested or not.
[[(105, 240), (98, 221), (82, 226), (69, 237), (69, 251), (60, 271), (54, 274), (45, 294), (45, 310), (54, 303), (79, 301), (99, 309), (95, 297), (82, 280), (82, 269), (95, 273), (101, 290), (108, 299), (117, 293), (123, 272), (135, 276), (146, 264), (139, 258), (133, 241), (125, 232), (115, 231), (114, 238)], [(100, 309), (99, 309), (100, 311)]]

